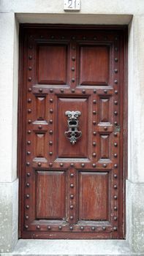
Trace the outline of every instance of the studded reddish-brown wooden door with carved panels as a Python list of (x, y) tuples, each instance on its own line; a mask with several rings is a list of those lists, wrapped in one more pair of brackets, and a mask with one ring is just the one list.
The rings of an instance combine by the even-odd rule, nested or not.
[(23, 26), (20, 47), (20, 237), (124, 238), (124, 29)]

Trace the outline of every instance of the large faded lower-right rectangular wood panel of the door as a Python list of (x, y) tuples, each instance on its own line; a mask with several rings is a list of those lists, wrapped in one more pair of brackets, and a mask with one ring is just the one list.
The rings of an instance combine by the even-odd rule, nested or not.
[(99, 172), (80, 172), (79, 219), (107, 220), (109, 175)]

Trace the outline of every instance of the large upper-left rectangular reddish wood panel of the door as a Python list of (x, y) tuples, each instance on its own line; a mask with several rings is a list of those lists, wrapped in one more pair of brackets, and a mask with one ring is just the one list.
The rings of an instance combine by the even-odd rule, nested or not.
[(67, 46), (39, 45), (38, 83), (66, 84)]

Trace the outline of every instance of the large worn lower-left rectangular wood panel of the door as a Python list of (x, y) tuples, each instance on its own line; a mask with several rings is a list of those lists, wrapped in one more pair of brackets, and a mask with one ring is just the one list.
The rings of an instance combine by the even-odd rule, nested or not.
[(37, 219), (63, 219), (66, 211), (64, 171), (36, 172)]

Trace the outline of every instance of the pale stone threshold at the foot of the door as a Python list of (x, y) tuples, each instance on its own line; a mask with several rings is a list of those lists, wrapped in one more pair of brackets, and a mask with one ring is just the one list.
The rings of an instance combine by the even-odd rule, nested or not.
[(131, 252), (125, 240), (18, 240), (13, 252), (1, 256), (15, 255), (143, 255)]

